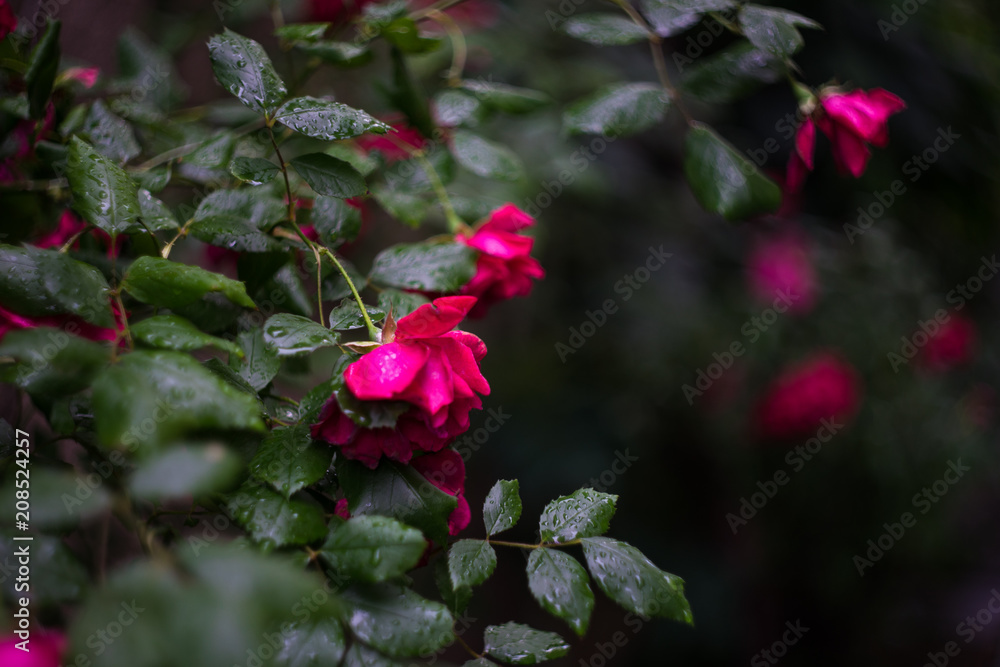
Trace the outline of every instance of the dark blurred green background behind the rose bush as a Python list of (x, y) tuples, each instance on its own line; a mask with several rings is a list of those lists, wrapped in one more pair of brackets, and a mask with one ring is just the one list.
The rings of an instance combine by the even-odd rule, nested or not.
[[(37, 4), (22, 3), (19, 15), (31, 15)], [(303, 15), (297, 4), (288, 3), (289, 17)], [(1000, 587), (1000, 368), (993, 343), (1000, 281), (986, 282), (962, 311), (977, 330), (967, 363), (945, 372), (910, 363), (894, 372), (887, 360), (901, 337), (948, 308), (949, 291), (997, 251), (1000, 6), (989, 0), (785, 4), (825, 28), (806, 32), (797, 59), (804, 81), (886, 88), (909, 108), (890, 121), (891, 143), (875, 151), (862, 179), (839, 176), (821, 140), (817, 171), (799, 202), (780, 219), (729, 225), (703, 213), (690, 194), (677, 114), (636, 138), (614, 141), (594, 160), (579, 152), (591, 138), (560, 132), (561, 110), (599, 85), (655, 80), (645, 45), (599, 49), (573, 41), (546, 18), (546, 11), (560, 12), (555, 0), (491, 4), (493, 27), (469, 35), (467, 76), (544, 90), (557, 102), (489, 127), (523, 156), (525, 181), (501, 187), (469, 176), (449, 186), (491, 204), (535, 204), (535, 254), (548, 273), (530, 298), (497, 306), (469, 326), (489, 347), (483, 371), (493, 393), (486, 407), (510, 417), (470, 457), (467, 495), (476, 507), (496, 479), (519, 478), (525, 517), (533, 518), (550, 499), (596, 480), (621, 496), (612, 534), (687, 581), (696, 619), (693, 629), (642, 623), (599, 596), (589, 633), (563, 664), (770, 664), (760, 652), (796, 622), (808, 631), (788, 647), (781, 658), (787, 664), (921, 665), (947, 642), (960, 649), (950, 664), (1000, 664), (1000, 620), (984, 623), (981, 616), (982, 630), (971, 638), (959, 626)], [(217, 9), (226, 25), (274, 52), (264, 5), (68, 2), (59, 9), (64, 52), (113, 71), (117, 36), (136, 26), (176, 53), (188, 103), (199, 104), (222, 95), (204, 47), (221, 24)], [(563, 0), (562, 7), (577, 5)], [(612, 8), (586, 0), (576, 11)], [(889, 32), (879, 22), (891, 22), (894, 11), (900, 25)], [(689, 39), (705, 29), (700, 24), (667, 40), (675, 75), (672, 55), (690, 56), (697, 41)], [(727, 43), (711, 40), (706, 54)], [(441, 85), (436, 73), (447, 67), (447, 55), (415, 63), (429, 89)], [(327, 72), (310, 92), (335, 92), (383, 111), (365, 78), (387, 79), (386, 64)], [(777, 139), (780, 149), (765, 167), (783, 171), (791, 142), (778, 123), (795, 112), (787, 85), (763, 87), (730, 105), (690, 100), (688, 106), (742, 150)], [(857, 223), (858, 208), (876, 201), (875, 193), (908, 179), (904, 165), (932, 146), (941, 128), (960, 138), (916, 182), (907, 180), (905, 194), (852, 243), (844, 225)], [(572, 182), (551, 196), (564, 169)], [(689, 404), (683, 385), (694, 383), (714, 353), (745, 341), (744, 323), (767, 307), (749, 289), (751, 248), (787, 229), (807, 239), (815, 306), (779, 317), (747, 346), (714, 397)], [(351, 259), (366, 267), (389, 243), (427, 235), (376, 214)], [(625, 301), (616, 283), (661, 245), (672, 257)], [(569, 343), (570, 328), (609, 298), (618, 310), (564, 362), (557, 343)], [(739, 511), (758, 482), (791, 472), (786, 453), (801, 444), (755, 437), (754, 405), (783, 367), (821, 349), (838, 350), (860, 373), (860, 410), (734, 535), (726, 515)], [(473, 416), (470, 434), (485, 416)], [(629, 465), (617, 472), (613, 464), (622, 458)], [(898, 544), (859, 576), (854, 556), (885, 532), (883, 524), (913, 512), (913, 495), (958, 459), (969, 472), (926, 514), (917, 512)], [(532, 540), (532, 525), (523, 521), (511, 539)], [(474, 522), (469, 536), (480, 530)], [(519, 554), (501, 554), (497, 573), (470, 609), (475, 632), (512, 618), (565, 632), (528, 595)]]

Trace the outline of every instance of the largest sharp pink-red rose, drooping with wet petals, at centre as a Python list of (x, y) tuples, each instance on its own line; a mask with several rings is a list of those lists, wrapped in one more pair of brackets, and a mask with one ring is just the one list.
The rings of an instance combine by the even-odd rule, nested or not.
[(469, 412), (490, 393), (479, 361), (478, 337), (452, 331), (475, 305), (467, 296), (441, 297), (396, 323), (390, 340), (350, 364), (344, 389), (360, 401), (398, 401), (409, 407), (394, 428), (364, 428), (341, 408), (336, 395), (312, 427), (314, 438), (338, 445), (370, 468), (382, 456), (407, 463), (415, 451), (435, 452), (469, 428)]

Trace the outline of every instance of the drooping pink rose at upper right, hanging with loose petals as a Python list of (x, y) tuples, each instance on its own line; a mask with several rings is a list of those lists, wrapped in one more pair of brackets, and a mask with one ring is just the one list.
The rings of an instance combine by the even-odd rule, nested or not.
[(837, 168), (860, 178), (868, 167), (871, 151), (868, 144), (884, 148), (889, 144), (889, 116), (906, 108), (906, 103), (892, 93), (876, 88), (850, 93), (820, 91), (819, 103), (795, 135), (795, 149), (788, 163), (788, 186), (797, 190), (813, 170), (816, 128), (832, 144)]

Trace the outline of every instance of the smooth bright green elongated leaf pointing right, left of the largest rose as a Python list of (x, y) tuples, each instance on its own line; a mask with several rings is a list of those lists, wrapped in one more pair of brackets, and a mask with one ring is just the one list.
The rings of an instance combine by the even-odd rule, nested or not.
[(160, 257), (139, 257), (125, 272), (122, 287), (133, 297), (154, 306), (177, 308), (210, 292), (220, 292), (244, 308), (256, 308), (243, 283)]

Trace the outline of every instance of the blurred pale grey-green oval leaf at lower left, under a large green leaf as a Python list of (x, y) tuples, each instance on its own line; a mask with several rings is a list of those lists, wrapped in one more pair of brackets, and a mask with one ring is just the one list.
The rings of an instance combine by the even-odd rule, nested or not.
[(219, 443), (172, 445), (146, 461), (129, 480), (136, 498), (160, 502), (225, 491), (243, 470), (240, 457)]

